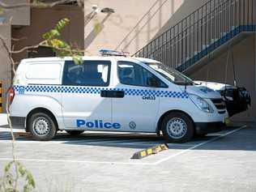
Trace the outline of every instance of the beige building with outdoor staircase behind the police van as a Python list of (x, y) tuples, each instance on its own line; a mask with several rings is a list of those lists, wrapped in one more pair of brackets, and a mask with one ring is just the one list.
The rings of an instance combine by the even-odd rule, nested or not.
[[(63, 38), (84, 48), (86, 55), (96, 55), (102, 48), (123, 50), (160, 60), (192, 79), (231, 84), (235, 66), (237, 85), (250, 91), (252, 106), (233, 119), (254, 122), (254, 10), (254, 0), (85, 0), (84, 10), (76, 5), (7, 10), (6, 21), (11, 17), (12, 21), (0, 25), (0, 35), (6, 38), (10, 49), (35, 45), (41, 41), (42, 33), (66, 17), (70, 25)], [(53, 55), (43, 48), (37, 51), (39, 54), (23, 52), (13, 58), (19, 62), (22, 58)], [(0, 80), (4, 81), (6, 90), (11, 83), (11, 66), (6, 65), (9, 61), (2, 47), (0, 59)]]

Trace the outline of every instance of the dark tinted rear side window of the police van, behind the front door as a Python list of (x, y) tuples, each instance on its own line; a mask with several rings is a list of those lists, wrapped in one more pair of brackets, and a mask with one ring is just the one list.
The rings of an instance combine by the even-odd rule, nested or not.
[(66, 61), (62, 83), (63, 85), (107, 87), (110, 79), (110, 65), (110, 61), (84, 61), (83, 65)]

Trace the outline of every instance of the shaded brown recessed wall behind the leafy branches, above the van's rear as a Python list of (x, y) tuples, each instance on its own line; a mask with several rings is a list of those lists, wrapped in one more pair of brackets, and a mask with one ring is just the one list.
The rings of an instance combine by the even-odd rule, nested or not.
[[(15, 49), (28, 45), (37, 45), (42, 41), (42, 35), (54, 28), (60, 19), (70, 19), (70, 24), (63, 30), (62, 37), (72, 45), (83, 49), (83, 9), (79, 6), (55, 6), (49, 9), (33, 8), (30, 26), (13, 28), (12, 37), (20, 39), (13, 41)], [(22, 58), (27, 58), (28, 53), (15, 54), (16, 62)]]

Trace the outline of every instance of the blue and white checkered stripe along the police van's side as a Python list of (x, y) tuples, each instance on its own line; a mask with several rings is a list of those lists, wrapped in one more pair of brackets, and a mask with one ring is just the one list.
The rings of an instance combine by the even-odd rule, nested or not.
[(15, 92), (24, 89), (26, 92), (65, 92), (65, 93), (87, 93), (100, 94), (100, 91), (123, 91), (126, 96), (157, 96), (157, 97), (173, 97), (187, 99), (189, 96), (186, 92), (169, 92), (155, 91), (149, 89), (131, 89), (131, 88), (106, 88), (106, 87), (75, 87), (75, 86), (57, 86), (57, 85), (15, 85)]

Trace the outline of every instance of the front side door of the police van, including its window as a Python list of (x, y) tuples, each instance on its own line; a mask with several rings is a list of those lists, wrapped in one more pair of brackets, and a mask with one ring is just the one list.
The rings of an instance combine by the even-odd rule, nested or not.
[(168, 86), (138, 63), (117, 61), (115, 72), (114, 88), (124, 96), (113, 98), (113, 122), (120, 123), (126, 131), (156, 131), (159, 94)]

